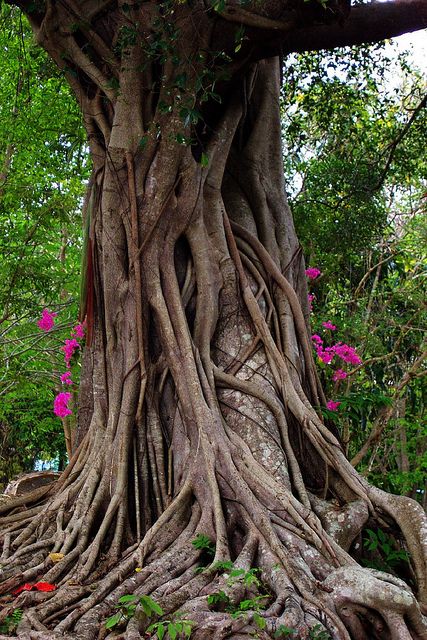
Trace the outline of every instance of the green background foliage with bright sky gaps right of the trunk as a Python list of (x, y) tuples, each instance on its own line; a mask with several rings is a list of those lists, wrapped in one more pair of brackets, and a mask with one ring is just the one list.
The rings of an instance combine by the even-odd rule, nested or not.
[(335, 383), (336, 367), (319, 363), (327, 397), (341, 402), (320, 410), (350, 458), (386, 416), (360, 470), (425, 505), (425, 367), (399, 385), (425, 349), (427, 113), (420, 74), (383, 48), (289, 59), (285, 173), (308, 264), (323, 274), (310, 283), (313, 333), (327, 345), (331, 321), (334, 341), (364, 362)]

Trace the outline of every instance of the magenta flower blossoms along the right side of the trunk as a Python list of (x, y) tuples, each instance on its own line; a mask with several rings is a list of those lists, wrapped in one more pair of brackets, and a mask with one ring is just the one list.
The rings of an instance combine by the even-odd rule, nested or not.
[[(315, 280), (321, 275), (321, 271), (314, 267), (310, 269), (306, 269), (305, 272), (307, 278), (309, 280)], [(312, 303), (314, 300), (314, 295), (312, 293), (308, 296), (308, 303), (310, 307), (310, 311), (312, 310)], [(336, 331), (336, 325), (332, 324), (330, 320), (326, 320), (322, 322), (322, 327), (329, 331)], [(324, 346), (323, 339), (315, 333), (311, 336), (314, 350), (316, 351), (317, 357), (324, 364), (331, 364), (335, 357), (340, 358), (343, 362), (347, 362), (352, 365), (359, 365), (362, 363), (362, 359), (357, 355), (356, 349), (351, 347), (348, 344), (344, 344), (342, 342), (337, 342), (331, 346)], [(340, 380), (344, 380), (347, 377), (347, 373), (343, 369), (336, 369), (332, 374), (332, 380), (334, 382), (339, 382)], [(337, 402), (334, 400), (329, 400), (326, 404), (326, 408), (329, 411), (337, 411), (341, 402)]]

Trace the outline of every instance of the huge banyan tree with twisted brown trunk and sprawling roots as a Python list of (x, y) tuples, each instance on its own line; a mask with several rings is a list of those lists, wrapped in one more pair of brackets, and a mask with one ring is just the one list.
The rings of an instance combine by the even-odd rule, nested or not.
[[(427, 638), (423, 510), (370, 486), (319, 411), (279, 117), (280, 56), (427, 26), (426, 1), (13, 4), (93, 174), (74, 454), (0, 505), (1, 592), (56, 590), (3, 617), (23, 609), (30, 640), (146, 638), (162, 616), (194, 640)], [(366, 527), (408, 551), (406, 582), (361, 567)], [(151, 600), (106, 628), (124, 595)]]

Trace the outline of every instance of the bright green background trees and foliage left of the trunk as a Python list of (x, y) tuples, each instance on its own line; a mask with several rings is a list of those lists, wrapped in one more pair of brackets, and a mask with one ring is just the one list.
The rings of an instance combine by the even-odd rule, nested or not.
[[(78, 313), (81, 117), (63, 74), (36, 46), (16, 8), (0, 13), (0, 485), (37, 459), (65, 461), (52, 414), (60, 345)], [(59, 328), (37, 326), (44, 307)], [(59, 462), (59, 460), (58, 460)]]

